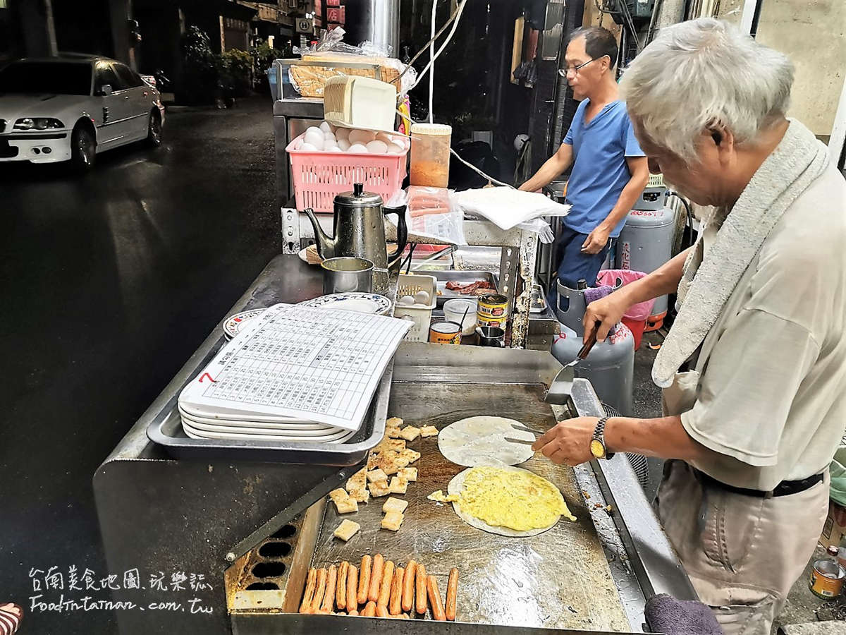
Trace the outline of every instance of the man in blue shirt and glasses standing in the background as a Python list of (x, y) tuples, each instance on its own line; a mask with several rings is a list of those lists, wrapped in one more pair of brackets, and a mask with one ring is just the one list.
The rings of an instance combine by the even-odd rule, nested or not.
[[(558, 152), (520, 186), (539, 190), (573, 166), (567, 183), (567, 202), (573, 208), (563, 218), (552, 262), (558, 279), (572, 289), (580, 279), (596, 284), (611, 240), (620, 234), (649, 180), (646, 157), (625, 104), (617, 98), (616, 59), (617, 42), (609, 30), (589, 26), (574, 31), (564, 57), (566, 69), (558, 72), (581, 103)], [(552, 299), (554, 290), (553, 283), (548, 290)]]

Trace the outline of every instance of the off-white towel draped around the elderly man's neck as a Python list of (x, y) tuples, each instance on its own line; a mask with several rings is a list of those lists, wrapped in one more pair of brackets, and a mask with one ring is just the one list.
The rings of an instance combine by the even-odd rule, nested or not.
[(707, 257), (701, 234), (690, 250), (678, 284), (678, 316), (652, 366), (652, 380), (661, 388), (673, 384), (678, 368), (705, 339), (785, 210), (828, 165), (826, 146), (804, 125), (789, 121), (782, 141), (728, 213)]

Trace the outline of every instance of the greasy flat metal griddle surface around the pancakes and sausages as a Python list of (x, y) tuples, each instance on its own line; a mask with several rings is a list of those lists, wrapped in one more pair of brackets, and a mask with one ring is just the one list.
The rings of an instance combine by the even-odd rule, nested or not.
[[(439, 429), (464, 417), (495, 414), (524, 422), (543, 432), (555, 422), (543, 403), (540, 384), (460, 384), (394, 382), (389, 415), (417, 427)], [(447, 461), (437, 450), (437, 437), (408, 444), (422, 453), (415, 463), (419, 478), (409, 483), (409, 501), (398, 533), (380, 528), (382, 503), (372, 499), (346, 517), (361, 531), (349, 543), (333, 538), (343, 520), (327, 505), (312, 566), (329, 566), (381, 553), (405, 565), (414, 559), (438, 578), (442, 594), (453, 566), (459, 568), (458, 620), (520, 627), (581, 628), (629, 631), (629, 621), (603, 553), (585, 500), (569, 467), (544, 457), (522, 463), (558, 486), (577, 522), (562, 519), (546, 533), (509, 538), (486, 533), (462, 522), (450, 504), (426, 500), (464, 467)], [(350, 473), (354, 468), (350, 468)]]

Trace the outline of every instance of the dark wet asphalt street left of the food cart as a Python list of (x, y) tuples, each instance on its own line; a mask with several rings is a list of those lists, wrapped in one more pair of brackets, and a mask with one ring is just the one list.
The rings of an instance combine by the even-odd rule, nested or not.
[(271, 100), (168, 113), (158, 150), (0, 168), (0, 603), (21, 632), (112, 633), (30, 610), (30, 569), (107, 574), (91, 476), (279, 251)]

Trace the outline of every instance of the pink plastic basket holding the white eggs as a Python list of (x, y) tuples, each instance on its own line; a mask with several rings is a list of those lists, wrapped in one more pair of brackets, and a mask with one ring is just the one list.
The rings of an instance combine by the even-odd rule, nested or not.
[(403, 135), (394, 135), (405, 146), (401, 154), (294, 150), (304, 136), (299, 135), (285, 148), (291, 157), (297, 209), (332, 212), (335, 195), (352, 191), (354, 183), (363, 183), (365, 191), (382, 196), (385, 202), (402, 188), (409, 153)]

